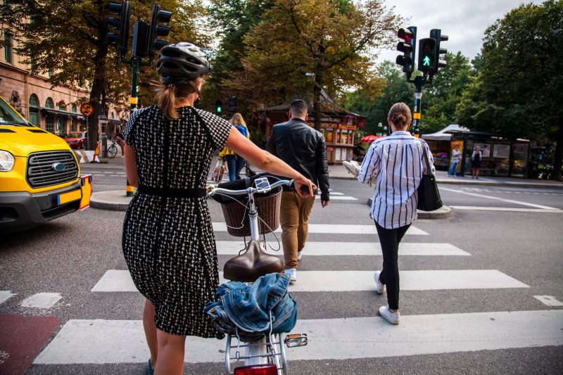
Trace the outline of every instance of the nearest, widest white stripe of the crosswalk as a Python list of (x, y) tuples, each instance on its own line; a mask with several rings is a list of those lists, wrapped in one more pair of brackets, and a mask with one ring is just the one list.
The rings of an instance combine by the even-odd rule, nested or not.
[[(375, 310), (375, 308), (374, 308)], [(290, 360), (350, 360), (562, 345), (563, 310), (299, 319), (309, 343)], [(186, 338), (185, 362), (223, 362), (223, 340)], [(69, 320), (34, 364), (141, 363), (150, 356), (141, 320)]]

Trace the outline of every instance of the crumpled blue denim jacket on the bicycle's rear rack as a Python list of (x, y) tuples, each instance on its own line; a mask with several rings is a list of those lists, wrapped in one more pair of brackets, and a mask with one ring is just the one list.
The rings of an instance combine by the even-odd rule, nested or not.
[(297, 321), (297, 304), (288, 285), (286, 274), (267, 274), (250, 286), (229, 281), (217, 289), (218, 300), (206, 303), (203, 310), (223, 333), (235, 334), (238, 329), (241, 336), (259, 338), (270, 331), (270, 310), (272, 333), (289, 332)]

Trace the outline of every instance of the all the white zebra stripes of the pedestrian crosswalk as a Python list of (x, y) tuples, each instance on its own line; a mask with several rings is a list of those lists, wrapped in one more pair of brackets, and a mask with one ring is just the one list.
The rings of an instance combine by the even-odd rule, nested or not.
[[(222, 222), (214, 222), (217, 233), (227, 230)], [(381, 255), (374, 226), (358, 224), (310, 224), (310, 234), (337, 234), (343, 242), (309, 241), (303, 257), (350, 260), (350, 267), (362, 257)], [(370, 234), (370, 241), (358, 236)], [(430, 234), (416, 226), (410, 227), (400, 245), (401, 257), (412, 260), (436, 260), (431, 269), (408, 269), (400, 272), (402, 291), (510, 291), (521, 292), (521, 298), (532, 298), (530, 286), (499, 269), (474, 269), (474, 255), (451, 243), (425, 242)], [(320, 239), (322, 236), (316, 236)], [(221, 238), (227, 238), (222, 235)], [(363, 237), (362, 237), (363, 238)], [(277, 243), (267, 251), (276, 252)], [(217, 241), (217, 254), (227, 259), (243, 248), (242, 239)], [(461, 267), (441, 269), (438, 260), (458, 260)], [(315, 269), (298, 272), (298, 282), (289, 291), (299, 300), (314, 303), (323, 295), (369, 293), (374, 291), (374, 270)], [(448, 264), (448, 262), (446, 262)], [(449, 263), (451, 264), (451, 262)], [(467, 267), (462, 267), (467, 265)], [(225, 281), (220, 272), (221, 281)], [(92, 295), (138, 293), (126, 269), (107, 269), (91, 286)], [(341, 294), (343, 293), (343, 294)], [(475, 293), (475, 292), (473, 292)], [(543, 303), (541, 310), (467, 311), (453, 314), (406, 314), (399, 327), (391, 326), (377, 313), (369, 317), (342, 316), (326, 319), (299, 319), (295, 332), (307, 332), (309, 344), (288, 350), (292, 360), (353, 360), (357, 358), (396, 357), (432, 353), (473, 352), (563, 345), (563, 310), (550, 310), (559, 301), (552, 296), (534, 296)], [(1, 298), (9, 295), (0, 293)], [(374, 297), (375, 298), (375, 297)], [(116, 299), (117, 300), (117, 299)], [(379, 301), (381, 302), (381, 301)], [(342, 303), (338, 300), (335, 304)], [(189, 337), (185, 361), (189, 363), (222, 362), (224, 341)], [(150, 354), (146, 347), (142, 322), (120, 319), (70, 319), (34, 360), (34, 364), (127, 364), (145, 362)], [(298, 372), (296, 372), (298, 373)]]

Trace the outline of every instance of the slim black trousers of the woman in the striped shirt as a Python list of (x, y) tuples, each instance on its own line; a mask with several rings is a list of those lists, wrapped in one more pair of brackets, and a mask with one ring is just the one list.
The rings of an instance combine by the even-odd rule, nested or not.
[(377, 235), (383, 252), (383, 269), (379, 274), (379, 281), (387, 287), (387, 303), (392, 310), (399, 308), (399, 243), (403, 239), (410, 224), (397, 229), (385, 229), (375, 223)]

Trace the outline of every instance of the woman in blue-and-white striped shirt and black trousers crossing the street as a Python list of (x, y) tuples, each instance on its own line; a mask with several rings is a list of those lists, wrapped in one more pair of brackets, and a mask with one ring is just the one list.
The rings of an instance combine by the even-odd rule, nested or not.
[[(411, 121), (405, 103), (396, 103), (389, 110), (387, 122), (393, 134), (377, 139), (367, 151), (360, 167), (358, 181), (367, 184), (375, 178), (375, 191), (370, 217), (375, 222), (383, 269), (375, 273), (376, 291), (387, 288), (387, 306), (379, 314), (391, 324), (399, 324), (398, 250), (410, 224), (417, 219), (417, 188), (426, 172), (422, 147), (426, 148), (430, 165), (434, 164), (426, 142), (412, 136), (407, 129)], [(432, 167), (434, 172), (434, 167)]]

